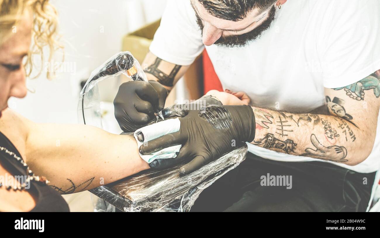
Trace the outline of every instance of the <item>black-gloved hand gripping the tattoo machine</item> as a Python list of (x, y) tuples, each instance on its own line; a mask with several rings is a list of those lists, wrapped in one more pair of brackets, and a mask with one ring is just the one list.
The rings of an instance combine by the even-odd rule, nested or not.
[(128, 81), (119, 87), (114, 99), (115, 117), (124, 132), (156, 122), (155, 113), (165, 106), (168, 91), (155, 80)]

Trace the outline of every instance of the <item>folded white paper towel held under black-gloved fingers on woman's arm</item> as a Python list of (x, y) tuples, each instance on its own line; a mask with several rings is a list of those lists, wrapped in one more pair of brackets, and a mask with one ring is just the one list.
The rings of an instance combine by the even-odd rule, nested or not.
[[(168, 119), (166, 121), (161, 121), (152, 125), (147, 125), (146, 127), (142, 127), (136, 130), (135, 133), (133, 133), (133, 136), (135, 136), (137, 146), (140, 148), (142, 144), (146, 142), (149, 143), (149, 141), (156, 139), (160, 136), (167, 135), (173, 132), (178, 132), (180, 125), (181, 123), (178, 118)], [(141, 142), (137, 139), (137, 135), (139, 134), (139, 132), (142, 132), (142, 135), (144, 135), (144, 142)], [(147, 163), (151, 163), (156, 159), (175, 158), (177, 156), (176, 153), (179, 152), (179, 149), (181, 149), (181, 147), (182, 145), (171, 146), (149, 155), (140, 154), (140, 157)]]

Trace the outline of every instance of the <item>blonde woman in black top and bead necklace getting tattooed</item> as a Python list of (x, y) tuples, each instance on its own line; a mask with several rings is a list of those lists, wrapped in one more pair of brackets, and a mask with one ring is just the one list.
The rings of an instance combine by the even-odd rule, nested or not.
[[(10, 97), (27, 94), (31, 55), (42, 55), (44, 46), (52, 55), (59, 47), (56, 11), (48, 0), (0, 0), (0, 28), (0, 211), (68, 211), (60, 194), (149, 169), (133, 137), (86, 125), (37, 124), (7, 108)], [(227, 97), (241, 102), (214, 94), (224, 103)], [(28, 181), (8, 184), (15, 176)]]

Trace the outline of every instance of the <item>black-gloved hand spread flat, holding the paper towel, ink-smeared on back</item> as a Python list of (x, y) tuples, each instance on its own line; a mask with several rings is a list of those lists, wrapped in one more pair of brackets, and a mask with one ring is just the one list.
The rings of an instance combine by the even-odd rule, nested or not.
[(241, 142), (251, 142), (255, 138), (255, 115), (250, 106), (210, 105), (201, 110), (184, 108), (184, 111), (187, 115), (179, 117), (178, 132), (161, 136), (139, 147), (142, 155), (148, 155), (182, 144), (176, 158), (154, 160), (149, 164), (151, 168), (164, 169), (191, 160), (180, 168), (181, 175), (189, 174), (233, 150)]

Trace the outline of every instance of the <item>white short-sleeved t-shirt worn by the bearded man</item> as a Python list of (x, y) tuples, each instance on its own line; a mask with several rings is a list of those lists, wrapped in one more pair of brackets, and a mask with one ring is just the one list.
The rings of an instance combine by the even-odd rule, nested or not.
[[(379, 25), (378, 0), (292, 0), (249, 45), (206, 50), (224, 89), (246, 92), (256, 106), (306, 113), (325, 104), (324, 87), (350, 85), (380, 69)], [(189, 65), (203, 49), (190, 0), (169, 0), (150, 51)], [(317, 160), (248, 146), (272, 160)], [(369, 157), (355, 166), (334, 164), (366, 173), (380, 169), (380, 116)]]

